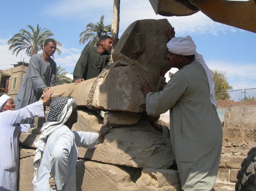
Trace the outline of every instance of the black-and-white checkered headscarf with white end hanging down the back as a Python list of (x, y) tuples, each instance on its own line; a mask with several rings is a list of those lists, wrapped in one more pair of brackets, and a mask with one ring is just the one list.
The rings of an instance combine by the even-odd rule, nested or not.
[(41, 135), (34, 142), (37, 149), (35, 151), (35, 158), (33, 163), (33, 167), (35, 169), (33, 183), (37, 180), (37, 171), (41, 164), (48, 136), (55, 129), (65, 124), (75, 108), (76, 102), (73, 97), (59, 97), (51, 102), (50, 111), (47, 115), (47, 122), (43, 125), (41, 129)]

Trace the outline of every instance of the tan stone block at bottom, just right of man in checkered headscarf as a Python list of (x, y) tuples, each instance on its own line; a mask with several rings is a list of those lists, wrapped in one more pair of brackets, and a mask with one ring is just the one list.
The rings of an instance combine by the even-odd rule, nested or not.
[(80, 160), (76, 163), (76, 191), (137, 191), (141, 169)]

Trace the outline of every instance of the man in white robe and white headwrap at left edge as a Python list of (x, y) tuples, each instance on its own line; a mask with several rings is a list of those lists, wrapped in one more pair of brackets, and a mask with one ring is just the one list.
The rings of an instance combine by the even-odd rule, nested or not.
[(15, 110), (13, 99), (7, 95), (0, 97), (0, 190), (17, 190), (19, 169), (19, 135), (30, 132), (30, 124), (20, 124), (34, 116), (45, 117), (43, 105), (50, 104), (47, 93), (43, 100)]

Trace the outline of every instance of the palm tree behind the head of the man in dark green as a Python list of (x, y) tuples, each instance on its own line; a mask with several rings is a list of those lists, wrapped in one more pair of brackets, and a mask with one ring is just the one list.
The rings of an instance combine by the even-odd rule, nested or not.
[(88, 23), (86, 25), (85, 31), (80, 33), (79, 37), (79, 44), (84, 44), (86, 41), (88, 43), (85, 45), (85, 47), (88, 46), (96, 46), (98, 43), (98, 40), (102, 35), (110, 35), (111, 32), (111, 25), (104, 25), (104, 15), (100, 17), (100, 22), (97, 22), (97, 24)]

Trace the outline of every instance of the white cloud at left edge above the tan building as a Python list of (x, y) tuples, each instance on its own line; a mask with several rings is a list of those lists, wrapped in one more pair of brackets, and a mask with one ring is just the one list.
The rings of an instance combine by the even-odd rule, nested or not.
[(19, 55), (16, 57), (15, 55), (12, 55), (12, 51), (9, 51), (9, 45), (7, 44), (7, 41), (9, 39), (0, 38), (0, 69), (5, 70), (8, 68), (13, 67), (11, 64), (16, 64), (21, 60), (25, 62), (29, 62), (30, 56), (27, 56), (25, 51), (20, 51)]

